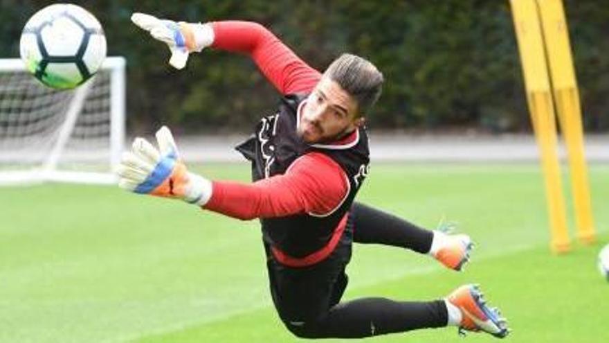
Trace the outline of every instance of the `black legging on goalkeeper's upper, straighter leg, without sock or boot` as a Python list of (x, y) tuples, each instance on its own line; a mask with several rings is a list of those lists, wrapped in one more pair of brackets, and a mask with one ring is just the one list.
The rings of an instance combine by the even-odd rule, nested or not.
[(351, 216), (354, 220), (353, 240), (356, 243), (405, 247), (421, 254), (428, 253), (431, 248), (433, 231), (421, 229), (390, 213), (354, 202)]

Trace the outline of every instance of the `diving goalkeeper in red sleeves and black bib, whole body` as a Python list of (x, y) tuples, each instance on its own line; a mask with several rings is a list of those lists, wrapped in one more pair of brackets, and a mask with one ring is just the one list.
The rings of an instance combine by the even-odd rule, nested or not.
[(141, 13), (131, 20), (169, 46), (170, 64), (178, 69), (206, 47), (243, 53), (280, 92), (276, 112), (237, 146), (251, 161), (251, 184), (190, 173), (167, 127), (156, 133), (158, 149), (135, 139), (118, 175), (120, 187), (135, 193), (185, 200), (242, 220), (260, 218), (273, 303), (291, 333), (356, 338), (457, 326), (460, 332), (507, 335), (505, 319), (475, 285), (435, 301), (340, 301), (352, 243), (410, 249), (453, 270), (462, 269), (472, 247), (465, 234), (422, 229), (354, 202), (368, 175), (364, 117), (383, 84), (371, 62), (344, 54), (320, 73), (253, 22), (176, 23)]

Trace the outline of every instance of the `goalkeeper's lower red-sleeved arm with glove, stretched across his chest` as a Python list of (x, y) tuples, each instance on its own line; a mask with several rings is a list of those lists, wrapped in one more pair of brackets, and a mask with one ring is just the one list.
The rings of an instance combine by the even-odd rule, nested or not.
[(298, 213), (331, 213), (349, 191), (347, 175), (336, 161), (318, 152), (303, 155), (284, 175), (252, 184), (212, 182), (190, 173), (167, 127), (156, 133), (159, 149), (134, 140), (118, 166), (119, 186), (134, 193), (184, 200), (226, 216), (249, 220)]

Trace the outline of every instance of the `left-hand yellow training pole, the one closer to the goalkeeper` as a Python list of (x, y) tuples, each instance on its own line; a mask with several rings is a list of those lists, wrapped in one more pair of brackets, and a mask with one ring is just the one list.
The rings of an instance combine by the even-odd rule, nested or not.
[(556, 121), (550, 92), (543, 37), (535, 0), (510, 0), (527, 102), (543, 168), (551, 232), (550, 246), (557, 253), (570, 249), (565, 199), (556, 152)]

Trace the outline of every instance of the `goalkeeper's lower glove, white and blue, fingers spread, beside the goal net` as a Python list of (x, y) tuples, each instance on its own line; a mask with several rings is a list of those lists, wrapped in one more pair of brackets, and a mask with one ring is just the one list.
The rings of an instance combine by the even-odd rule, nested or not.
[(186, 170), (167, 127), (156, 132), (156, 141), (159, 149), (143, 138), (134, 140), (117, 168), (118, 186), (134, 193), (206, 204), (212, 193), (211, 182)]

